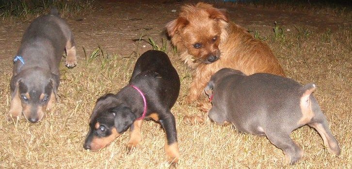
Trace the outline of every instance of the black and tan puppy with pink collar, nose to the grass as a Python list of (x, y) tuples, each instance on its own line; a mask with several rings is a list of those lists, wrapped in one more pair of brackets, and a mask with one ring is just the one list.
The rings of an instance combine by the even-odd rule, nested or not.
[(137, 60), (128, 85), (117, 94), (108, 93), (96, 101), (83, 147), (93, 151), (102, 149), (129, 127), (127, 147), (136, 147), (145, 116), (160, 123), (166, 134), (168, 160), (178, 162), (176, 123), (170, 109), (179, 89), (179, 77), (168, 56), (157, 50), (146, 51)]

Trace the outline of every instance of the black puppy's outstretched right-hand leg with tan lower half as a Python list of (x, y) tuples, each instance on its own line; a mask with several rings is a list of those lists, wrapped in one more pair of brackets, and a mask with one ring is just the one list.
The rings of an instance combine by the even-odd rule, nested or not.
[[(164, 114), (163, 114), (164, 115)], [(164, 116), (160, 117), (160, 125), (165, 131), (165, 152), (170, 164), (178, 163), (179, 152), (176, 134), (176, 122), (174, 115), (168, 110)]]

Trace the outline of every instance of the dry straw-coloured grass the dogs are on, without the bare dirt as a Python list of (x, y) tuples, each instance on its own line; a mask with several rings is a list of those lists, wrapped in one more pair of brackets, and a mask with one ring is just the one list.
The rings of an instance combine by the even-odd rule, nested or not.
[[(272, 34), (262, 34), (271, 37)], [(341, 155), (327, 151), (319, 134), (304, 126), (291, 134), (303, 147), (304, 157), (294, 166), (284, 164), (284, 154), (265, 137), (237, 133), (230, 126), (206, 121), (189, 125), (181, 122), (186, 114), (199, 111), (183, 105), (190, 72), (171, 56), (181, 77), (181, 92), (172, 112), (176, 116), (180, 162), (186, 168), (351, 168), (352, 166), (352, 30), (340, 28), (322, 33), (291, 31), (285, 38), (268, 38), (275, 56), (288, 77), (301, 83), (316, 82), (314, 93), (336, 136)], [(81, 50), (81, 49), (80, 49)], [(88, 57), (91, 50), (87, 50)], [(82, 51), (80, 53), (83, 53)], [(172, 53), (171, 51), (169, 53)], [(164, 132), (154, 122), (142, 125), (142, 142), (128, 153), (124, 144), (128, 132), (99, 151), (83, 149), (88, 119), (96, 99), (118, 92), (128, 83), (136, 57), (95, 55), (90, 61), (80, 56), (79, 64), (67, 69), (61, 64), (60, 99), (42, 122), (24, 119), (7, 122), (12, 72), (10, 59), (0, 62), (0, 168), (167, 168)]]

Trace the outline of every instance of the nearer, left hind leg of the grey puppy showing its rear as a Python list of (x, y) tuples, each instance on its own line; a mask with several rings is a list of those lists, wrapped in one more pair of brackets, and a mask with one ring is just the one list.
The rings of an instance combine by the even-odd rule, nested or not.
[(265, 134), (273, 145), (284, 152), (288, 164), (292, 165), (302, 158), (303, 150), (289, 137), (289, 133), (274, 131)]

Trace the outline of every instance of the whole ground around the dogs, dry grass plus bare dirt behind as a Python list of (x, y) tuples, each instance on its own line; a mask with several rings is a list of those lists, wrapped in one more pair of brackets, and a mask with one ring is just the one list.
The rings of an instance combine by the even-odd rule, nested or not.
[[(10, 107), (12, 58), (32, 18), (0, 21), (0, 168), (168, 168), (164, 132), (154, 122), (143, 123), (142, 141), (134, 152), (125, 149), (128, 132), (99, 152), (84, 150), (83, 142), (96, 99), (125, 86), (136, 61), (134, 56), (152, 48), (145, 41), (135, 39), (151, 37), (160, 45), (161, 38), (166, 38), (166, 23), (176, 18), (180, 6), (190, 2), (196, 3), (190, 0), (96, 0), (93, 9), (85, 11), (84, 15), (64, 17), (75, 36), (78, 66), (68, 69), (60, 65), (59, 100), (53, 110), (35, 124), (23, 118), (18, 124), (5, 120)], [(216, 125), (208, 119), (201, 124), (182, 123), (185, 115), (200, 111), (194, 105), (183, 104), (192, 81), (191, 70), (169, 48), (169, 56), (181, 78), (180, 95), (172, 109), (180, 149), (178, 167), (351, 168), (352, 21), (323, 13), (210, 2), (226, 8), (231, 21), (267, 37), (264, 42), (271, 47), (288, 77), (302, 84), (315, 82), (318, 85), (314, 96), (339, 142), (341, 154), (329, 153), (320, 135), (304, 126), (291, 134), (303, 148), (304, 156), (296, 165), (287, 166), (283, 152), (265, 137), (240, 134), (231, 126)], [(271, 40), (275, 21), (285, 33), (279, 40)], [(98, 46), (115, 58), (85, 60), (83, 48), (91, 56)]]

